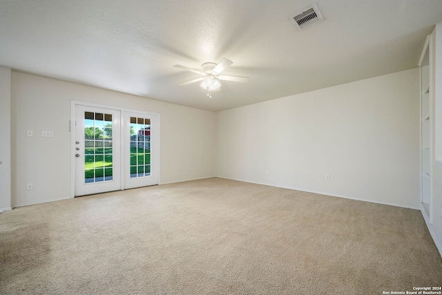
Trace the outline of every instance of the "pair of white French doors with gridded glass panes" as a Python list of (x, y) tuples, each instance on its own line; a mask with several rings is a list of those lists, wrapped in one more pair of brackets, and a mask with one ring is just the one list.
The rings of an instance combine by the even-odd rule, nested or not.
[(158, 184), (158, 115), (73, 104), (74, 196)]

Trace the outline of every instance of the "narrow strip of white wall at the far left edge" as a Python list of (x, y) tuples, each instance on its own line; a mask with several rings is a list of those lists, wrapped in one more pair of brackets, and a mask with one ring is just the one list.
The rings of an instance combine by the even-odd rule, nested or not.
[(0, 66), (0, 212), (11, 209), (11, 69)]

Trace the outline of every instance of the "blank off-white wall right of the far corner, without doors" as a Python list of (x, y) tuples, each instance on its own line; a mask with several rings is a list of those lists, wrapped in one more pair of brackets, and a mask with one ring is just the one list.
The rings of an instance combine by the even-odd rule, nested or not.
[(222, 111), (217, 125), (222, 178), (420, 208), (418, 68)]

